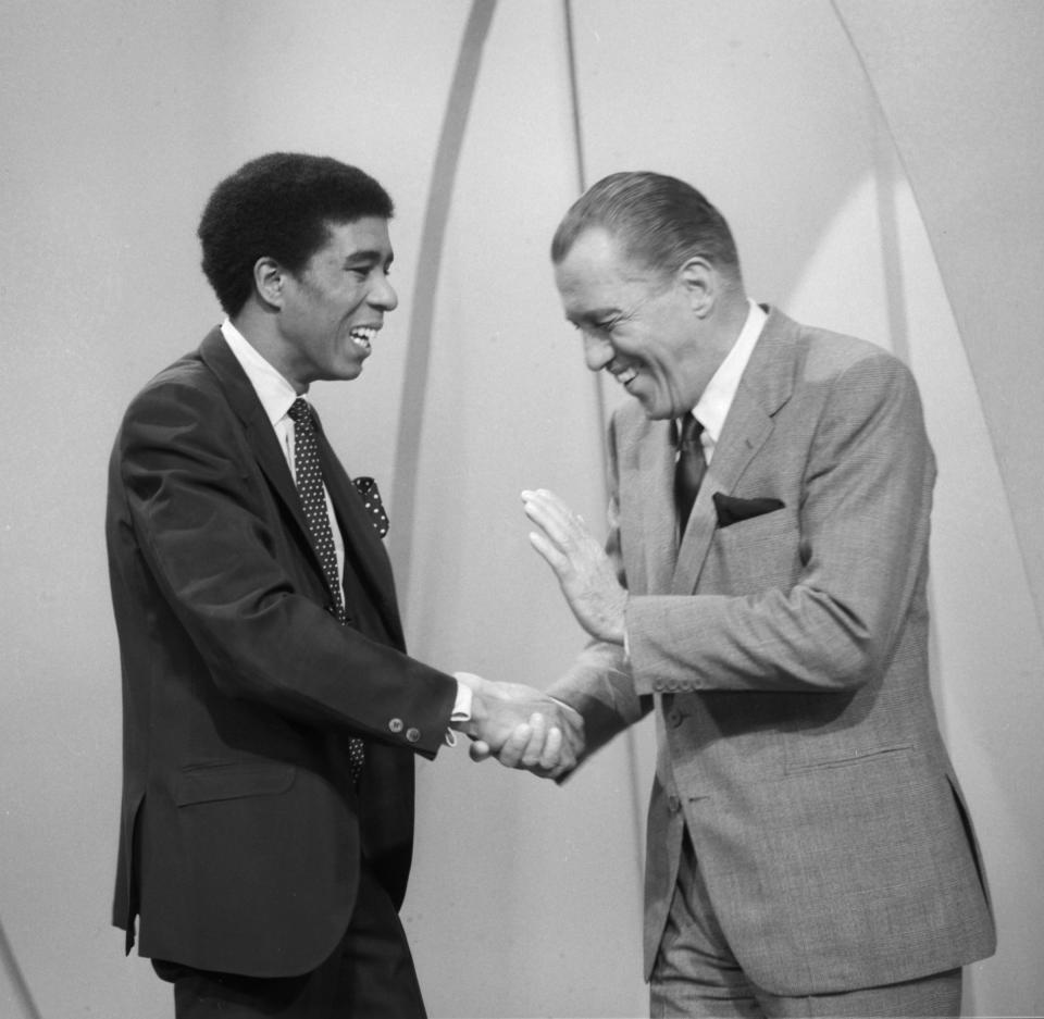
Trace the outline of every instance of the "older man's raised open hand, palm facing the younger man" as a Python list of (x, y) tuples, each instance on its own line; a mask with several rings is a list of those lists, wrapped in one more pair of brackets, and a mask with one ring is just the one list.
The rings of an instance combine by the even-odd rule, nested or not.
[(540, 529), (530, 542), (555, 571), (581, 626), (593, 637), (623, 644), (627, 592), (583, 518), (544, 488), (523, 492), (522, 506)]

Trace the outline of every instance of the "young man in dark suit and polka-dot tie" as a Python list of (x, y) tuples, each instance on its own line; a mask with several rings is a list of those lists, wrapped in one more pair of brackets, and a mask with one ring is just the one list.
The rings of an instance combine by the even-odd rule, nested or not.
[(274, 153), (222, 182), (199, 237), (227, 319), (116, 437), (114, 922), (129, 950), (138, 917), (178, 1017), (424, 1015), (397, 912), (414, 755), (451, 725), (499, 746), (537, 710), (549, 748), (573, 740), (535, 691), (407, 656), (380, 496), (303, 399), (360, 374), (398, 302), (391, 212), (328, 158)]

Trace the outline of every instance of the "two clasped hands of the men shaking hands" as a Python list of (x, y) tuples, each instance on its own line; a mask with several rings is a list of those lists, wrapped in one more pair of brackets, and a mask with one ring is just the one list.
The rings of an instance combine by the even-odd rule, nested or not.
[(495, 757), (557, 779), (576, 767), (584, 749), (584, 720), (569, 705), (520, 683), (494, 683), (471, 672), (455, 673), (471, 689), (471, 718), (452, 728), (470, 736), (472, 760)]

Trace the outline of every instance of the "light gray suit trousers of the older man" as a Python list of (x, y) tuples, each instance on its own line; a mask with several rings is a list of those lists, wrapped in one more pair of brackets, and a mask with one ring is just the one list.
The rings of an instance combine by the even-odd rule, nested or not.
[(755, 985), (732, 954), (688, 832), (650, 979), (651, 1019), (857, 1019), (960, 1015), (961, 970), (837, 994), (784, 997)]

